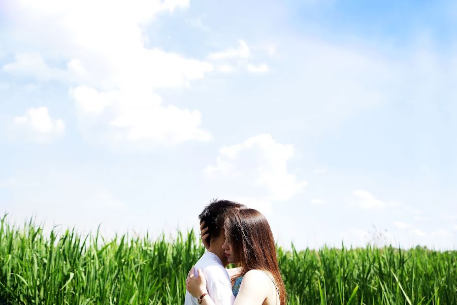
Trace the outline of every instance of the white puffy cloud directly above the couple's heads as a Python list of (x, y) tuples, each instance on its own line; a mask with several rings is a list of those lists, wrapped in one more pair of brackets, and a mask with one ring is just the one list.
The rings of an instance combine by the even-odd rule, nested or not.
[(256, 202), (268, 210), (274, 202), (288, 200), (308, 185), (287, 169), (294, 156), (292, 145), (260, 134), (220, 148), (216, 164), (209, 165), (206, 174), (216, 185), (223, 185), (225, 192), (231, 190), (231, 198)]

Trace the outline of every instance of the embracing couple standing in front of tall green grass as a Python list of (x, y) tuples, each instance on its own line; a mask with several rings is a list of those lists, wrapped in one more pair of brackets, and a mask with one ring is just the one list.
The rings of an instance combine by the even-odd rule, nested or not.
[[(189, 271), (184, 305), (285, 305), (273, 234), (265, 216), (243, 204), (216, 200), (199, 216), (208, 250)], [(236, 268), (225, 268), (229, 263)]]

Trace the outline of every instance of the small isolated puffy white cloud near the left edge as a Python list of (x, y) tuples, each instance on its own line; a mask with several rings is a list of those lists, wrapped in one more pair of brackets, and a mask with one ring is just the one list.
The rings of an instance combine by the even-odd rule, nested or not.
[(19, 140), (46, 143), (63, 136), (65, 124), (52, 118), (46, 107), (30, 108), (24, 116), (13, 118), (11, 132)]

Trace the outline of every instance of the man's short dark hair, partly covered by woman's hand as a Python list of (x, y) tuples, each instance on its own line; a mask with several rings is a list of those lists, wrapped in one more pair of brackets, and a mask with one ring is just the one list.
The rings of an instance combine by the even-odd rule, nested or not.
[(227, 212), (233, 209), (239, 209), (246, 207), (244, 204), (240, 204), (230, 200), (218, 200), (213, 199), (199, 215), (200, 223), (205, 222), (208, 227), (209, 236), (207, 239), (211, 241), (212, 238), (217, 238), (221, 234), (221, 230), (224, 227), (224, 221), (227, 216)]

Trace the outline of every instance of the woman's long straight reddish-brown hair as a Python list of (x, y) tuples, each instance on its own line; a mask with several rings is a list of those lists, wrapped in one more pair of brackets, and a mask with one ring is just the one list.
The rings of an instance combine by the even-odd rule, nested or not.
[(270, 272), (278, 287), (280, 305), (285, 305), (287, 293), (279, 271), (275, 240), (265, 216), (253, 208), (240, 208), (228, 214), (224, 227), (234, 258), (241, 266), (240, 276), (253, 269)]

